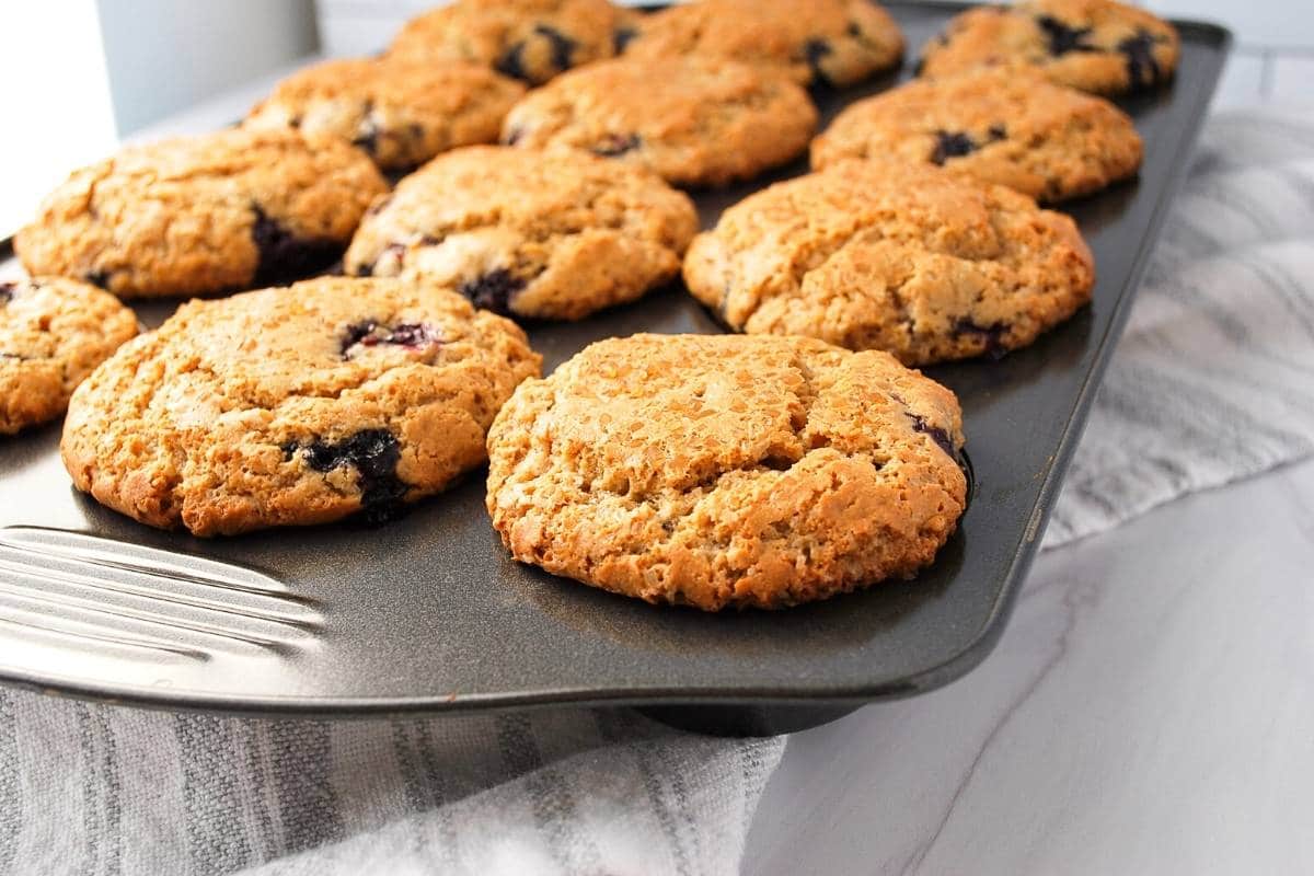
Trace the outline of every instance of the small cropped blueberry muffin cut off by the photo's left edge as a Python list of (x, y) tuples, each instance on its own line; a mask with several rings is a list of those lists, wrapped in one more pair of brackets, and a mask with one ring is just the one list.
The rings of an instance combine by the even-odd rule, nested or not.
[(0, 282), (0, 435), (58, 418), (78, 383), (135, 334), (135, 314), (85, 282)]

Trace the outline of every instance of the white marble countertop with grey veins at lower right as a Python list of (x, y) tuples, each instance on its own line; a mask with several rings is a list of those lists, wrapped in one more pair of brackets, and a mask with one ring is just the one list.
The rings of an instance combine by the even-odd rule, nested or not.
[(1042, 554), (974, 672), (790, 739), (744, 872), (1314, 872), (1314, 461)]

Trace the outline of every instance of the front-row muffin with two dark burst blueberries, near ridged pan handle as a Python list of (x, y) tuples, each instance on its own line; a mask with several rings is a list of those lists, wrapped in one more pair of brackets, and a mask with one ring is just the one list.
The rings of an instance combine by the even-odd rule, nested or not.
[(197, 536), (392, 516), (482, 465), (539, 356), (424, 282), (322, 277), (183, 305), (74, 393), (74, 485)]

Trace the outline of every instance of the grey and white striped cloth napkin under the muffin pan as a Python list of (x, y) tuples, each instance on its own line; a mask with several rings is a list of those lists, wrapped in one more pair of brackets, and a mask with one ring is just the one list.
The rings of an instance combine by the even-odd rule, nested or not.
[[(1221, 114), (1045, 546), (1311, 435), (1314, 121)], [(783, 749), (628, 711), (327, 724), (0, 690), (0, 873), (735, 873)]]

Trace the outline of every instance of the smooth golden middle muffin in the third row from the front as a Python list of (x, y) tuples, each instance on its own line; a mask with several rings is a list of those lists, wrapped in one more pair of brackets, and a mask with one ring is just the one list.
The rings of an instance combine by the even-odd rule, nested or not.
[(725, 185), (807, 148), (817, 112), (784, 75), (715, 58), (618, 58), (558, 76), (516, 104), (502, 142), (569, 146), (677, 185)]

